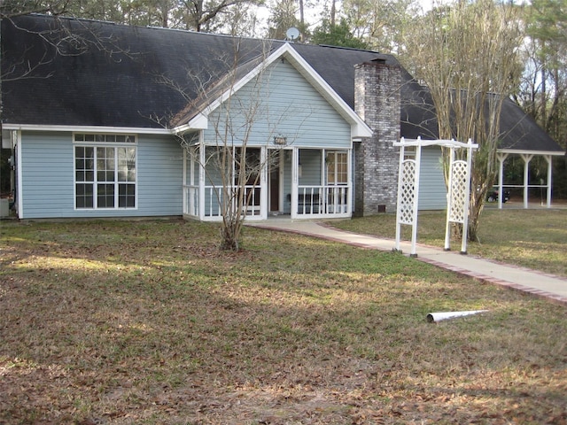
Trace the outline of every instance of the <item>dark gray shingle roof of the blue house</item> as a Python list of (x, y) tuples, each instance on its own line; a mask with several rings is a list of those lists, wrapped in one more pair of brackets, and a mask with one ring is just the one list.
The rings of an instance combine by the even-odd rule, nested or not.
[[(235, 61), (241, 66), (253, 63), (263, 50), (282, 43), (41, 15), (4, 19), (2, 121), (161, 128), (187, 111), (204, 85), (235, 69)], [(399, 65), (396, 58), (376, 51), (305, 44), (294, 48), (352, 108), (356, 64), (384, 58)], [(25, 78), (11, 78), (22, 74)], [(436, 138), (427, 90), (403, 68), (402, 81), (401, 135)], [(502, 147), (561, 151), (511, 100), (505, 103), (501, 123), (507, 132)]]

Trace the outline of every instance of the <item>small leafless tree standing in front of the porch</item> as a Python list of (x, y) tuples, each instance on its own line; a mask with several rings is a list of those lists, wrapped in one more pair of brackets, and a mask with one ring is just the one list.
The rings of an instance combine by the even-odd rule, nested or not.
[[(205, 63), (198, 72), (190, 73), (196, 94), (184, 91), (175, 81), (159, 77), (161, 82), (182, 92), (188, 101), (183, 112), (171, 120), (173, 126), (183, 125), (188, 117), (198, 113), (207, 117), (209, 129), (200, 137), (190, 132), (178, 137), (188, 156), (205, 174), (206, 187), (212, 189), (221, 215), (223, 250), (238, 251), (246, 217), (260, 213), (261, 176), (267, 175), (268, 167), (279, 160), (281, 153), (274, 146), (278, 129), (282, 126), (289, 129), (289, 122), (285, 121), (294, 120), (295, 133), (286, 134), (289, 147), (310, 114), (308, 106), (307, 113), (298, 118), (292, 105), (270, 103), (270, 86), (276, 84), (271, 79), (274, 67), (266, 62), (268, 42), (260, 45), (260, 54), (243, 65), (239, 64), (244, 49), (238, 44), (231, 58), (211, 54), (209, 57), (215, 58), (212, 62), (216, 66)], [(221, 68), (219, 63), (223, 64)], [(213, 74), (213, 69), (219, 73)], [(249, 73), (253, 77), (240, 87), (242, 78)]]

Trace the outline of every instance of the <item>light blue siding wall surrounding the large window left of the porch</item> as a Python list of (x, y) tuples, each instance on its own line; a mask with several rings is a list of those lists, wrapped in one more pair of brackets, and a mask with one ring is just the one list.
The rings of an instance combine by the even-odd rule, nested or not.
[(74, 209), (72, 133), (22, 132), (24, 219), (144, 217), (182, 214), (183, 152), (174, 138), (140, 135), (137, 144), (137, 209)]

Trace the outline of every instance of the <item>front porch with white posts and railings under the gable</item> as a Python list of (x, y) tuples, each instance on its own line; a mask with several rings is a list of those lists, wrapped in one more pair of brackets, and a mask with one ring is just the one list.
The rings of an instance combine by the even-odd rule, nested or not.
[(240, 209), (247, 220), (348, 218), (351, 164), (350, 150), (196, 146), (184, 155), (183, 215), (216, 221)]

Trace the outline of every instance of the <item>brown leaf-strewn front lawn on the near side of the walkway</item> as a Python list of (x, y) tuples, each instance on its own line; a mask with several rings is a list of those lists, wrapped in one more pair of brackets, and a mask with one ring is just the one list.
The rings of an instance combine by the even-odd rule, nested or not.
[(567, 422), (562, 306), (256, 228), (0, 232), (0, 423)]

